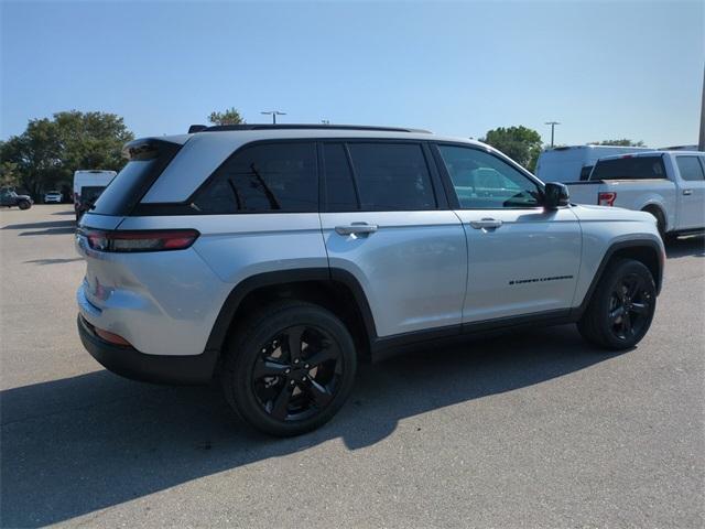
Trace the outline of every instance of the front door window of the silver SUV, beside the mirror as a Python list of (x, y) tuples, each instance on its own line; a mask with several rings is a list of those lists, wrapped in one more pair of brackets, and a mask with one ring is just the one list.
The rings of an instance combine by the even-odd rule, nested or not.
[(539, 186), (503, 160), (467, 147), (440, 145), (463, 209), (536, 207)]

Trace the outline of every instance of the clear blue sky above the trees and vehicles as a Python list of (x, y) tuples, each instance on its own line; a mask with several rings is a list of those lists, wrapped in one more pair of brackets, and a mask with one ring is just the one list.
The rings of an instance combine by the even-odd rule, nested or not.
[(696, 143), (705, 2), (2, 2), (0, 138), (68, 109), (138, 137), (212, 110), (556, 142)]

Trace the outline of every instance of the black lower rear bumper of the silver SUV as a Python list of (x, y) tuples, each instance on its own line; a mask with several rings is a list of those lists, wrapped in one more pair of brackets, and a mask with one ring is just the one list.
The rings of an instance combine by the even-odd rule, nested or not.
[(208, 384), (213, 378), (218, 360), (216, 350), (189, 356), (145, 355), (133, 347), (113, 345), (100, 338), (80, 314), (77, 323), (86, 350), (117, 375), (143, 382), (172, 385)]

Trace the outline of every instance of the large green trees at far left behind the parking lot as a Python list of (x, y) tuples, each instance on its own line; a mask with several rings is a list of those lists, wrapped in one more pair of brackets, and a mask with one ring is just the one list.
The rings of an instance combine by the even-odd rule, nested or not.
[[(18, 184), (37, 198), (48, 187), (73, 181), (78, 169), (119, 171), (122, 145), (134, 139), (121, 117), (70, 110), (32, 119), (26, 130), (0, 144), (0, 166), (11, 164)], [(7, 165), (10, 168), (10, 165)]]

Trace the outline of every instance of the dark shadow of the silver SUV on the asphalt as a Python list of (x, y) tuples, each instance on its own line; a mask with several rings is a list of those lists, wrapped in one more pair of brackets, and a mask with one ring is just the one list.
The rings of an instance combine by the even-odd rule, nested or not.
[(294, 439), (246, 428), (215, 387), (150, 386), (98, 370), (8, 389), (0, 392), (0, 519), (3, 527), (68, 520), (333, 439), (355, 451), (420, 413), (612, 357), (590, 348), (570, 325), (365, 364), (336, 418)]

